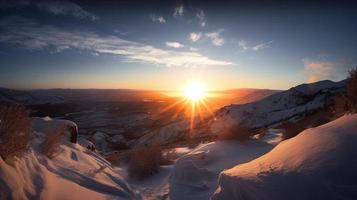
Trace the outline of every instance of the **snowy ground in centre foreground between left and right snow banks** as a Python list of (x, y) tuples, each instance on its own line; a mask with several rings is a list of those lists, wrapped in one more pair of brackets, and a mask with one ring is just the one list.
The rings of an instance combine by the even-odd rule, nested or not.
[(133, 180), (121, 166), (125, 179), (145, 199), (208, 199), (218, 186), (219, 173), (237, 164), (248, 162), (271, 150), (281, 140), (281, 130), (269, 130), (264, 137), (245, 143), (216, 141), (167, 149), (175, 153), (172, 165), (160, 166), (159, 172), (145, 180)]

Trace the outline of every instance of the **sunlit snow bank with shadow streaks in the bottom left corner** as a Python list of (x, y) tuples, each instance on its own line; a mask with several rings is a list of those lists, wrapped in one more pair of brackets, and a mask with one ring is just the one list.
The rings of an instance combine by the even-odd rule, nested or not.
[(31, 150), (10, 164), (0, 158), (0, 199), (137, 199), (111, 165), (78, 144), (52, 160)]

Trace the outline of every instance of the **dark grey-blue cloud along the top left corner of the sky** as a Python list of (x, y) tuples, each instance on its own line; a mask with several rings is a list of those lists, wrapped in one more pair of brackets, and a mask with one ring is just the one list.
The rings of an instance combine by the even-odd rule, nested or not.
[(49, 12), (53, 15), (74, 16), (80, 19), (98, 20), (99, 17), (84, 10), (78, 4), (71, 1), (34, 1), (34, 0), (19, 0), (19, 1), (4, 1), (0, 4), (0, 9), (21, 8), (33, 6), (39, 10)]

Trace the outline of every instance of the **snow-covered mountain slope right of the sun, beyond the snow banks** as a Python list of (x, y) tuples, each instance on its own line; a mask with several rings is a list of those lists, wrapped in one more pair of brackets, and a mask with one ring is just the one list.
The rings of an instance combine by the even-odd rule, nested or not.
[(260, 101), (223, 107), (217, 111), (211, 131), (219, 134), (237, 124), (262, 128), (321, 109), (330, 104), (336, 94), (342, 93), (344, 86), (345, 81), (302, 84)]

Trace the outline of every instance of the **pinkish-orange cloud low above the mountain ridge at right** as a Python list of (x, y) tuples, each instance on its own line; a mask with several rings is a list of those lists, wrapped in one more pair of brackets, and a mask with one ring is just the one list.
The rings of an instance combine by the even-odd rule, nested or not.
[(303, 63), (304, 72), (308, 76), (310, 83), (326, 79), (342, 79), (344, 77), (341, 77), (341, 74), (346, 73), (350, 64), (346, 59), (330, 61), (326, 55), (318, 56), (315, 59), (305, 58)]

